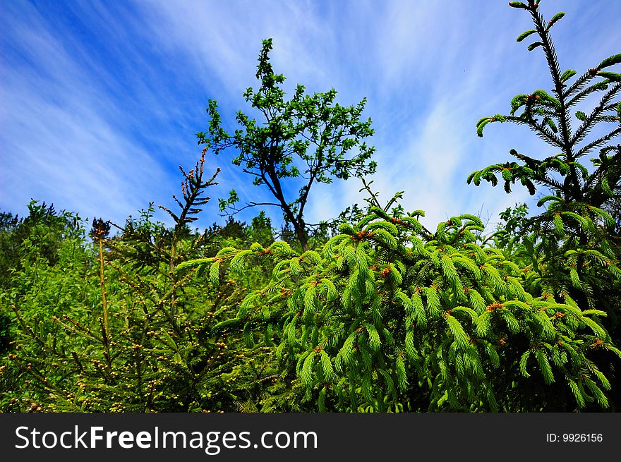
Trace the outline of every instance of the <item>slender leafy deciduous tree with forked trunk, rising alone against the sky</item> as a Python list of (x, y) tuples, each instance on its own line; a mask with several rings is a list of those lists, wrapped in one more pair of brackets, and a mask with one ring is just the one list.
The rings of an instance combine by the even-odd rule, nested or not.
[[(373, 135), (371, 121), (361, 120), (366, 100), (345, 107), (336, 102), (337, 92), (306, 95), (303, 85), (297, 85), (293, 97), (285, 99), (282, 90), (284, 75), (274, 73), (269, 53), (272, 39), (263, 41), (256, 78), (257, 90), (248, 88), (243, 94), (251, 108), (261, 114), (260, 120), (243, 111), (237, 113), (240, 128), (227, 133), (222, 127), (217, 103), (210, 100), (207, 133), (197, 133), (199, 144), (213, 148), (216, 154), (234, 150), (233, 164), (253, 176), (255, 186), (263, 186), (275, 202), (247, 202), (237, 208), (239, 197), (231, 190), (229, 198), (220, 200), (220, 208), (236, 213), (255, 206), (275, 206), (282, 209), (284, 220), (294, 228), (303, 250), (308, 250), (308, 233), (313, 226), (304, 221), (304, 209), (310, 189), (315, 183), (332, 183), (334, 178), (346, 180), (375, 171), (370, 160), (375, 148), (366, 145)], [(288, 197), (284, 181), (293, 178), (301, 183), (298, 195)]]

